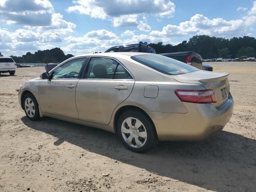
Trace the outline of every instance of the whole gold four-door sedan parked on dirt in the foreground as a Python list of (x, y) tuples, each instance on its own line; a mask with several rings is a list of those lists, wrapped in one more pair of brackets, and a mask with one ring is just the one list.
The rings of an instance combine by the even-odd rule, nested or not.
[(100, 128), (145, 152), (158, 140), (203, 140), (222, 130), (234, 107), (228, 75), (160, 54), (86, 54), (24, 82), (18, 99), (30, 120)]

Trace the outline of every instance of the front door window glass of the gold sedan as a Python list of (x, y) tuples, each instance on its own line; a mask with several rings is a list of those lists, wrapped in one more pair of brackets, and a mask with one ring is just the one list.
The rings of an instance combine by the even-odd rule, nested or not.
[(86, 63), (87, 59), (88, 58), (76, 58), (62, 64), (52, 72), (52, 79), (77, 79), (79, 77), (80, 70)]

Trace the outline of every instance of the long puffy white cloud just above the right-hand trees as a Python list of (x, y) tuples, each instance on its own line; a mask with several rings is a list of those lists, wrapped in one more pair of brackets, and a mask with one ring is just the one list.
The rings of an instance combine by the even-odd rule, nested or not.
[(233, 36), (244, 34), (246, 31), (244, 20), (226, 21), (222, 18), (212, 20), (196, 14), (189, 21), (181, 22), (179, 25), (168, 24), (162, 31), (152, 31), (154, 37), (174, 37), (206, 34), (210, 36)]

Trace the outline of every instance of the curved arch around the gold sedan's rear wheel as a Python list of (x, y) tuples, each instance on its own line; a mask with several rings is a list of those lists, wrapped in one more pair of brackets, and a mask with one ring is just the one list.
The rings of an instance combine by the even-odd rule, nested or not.
[(144, 115), (146, 115), (148, 117), (148, 119), (152, 122), (152, 124), (154, 125), (154, 129), (156, 131), (156, 126), (154, 124), (154, 122), (152, 121), (152, 119), (150, 118), (150, 116), (141, 108), (137, 107), (137, 106), (133, 106), (133, 105), (125, 105), (125, 106), (122, 106), (120, 107), (115, 115), (114, 115), (114, 123), (113, 123), (113, 126), (114, 126), (114, 132), (117, 133), (117, 123), (118, 123), (118, 119), (120, 118), (120, 116), (128, 111), (128, 110), (136, 110), (136, 111), (139, 111), (141, 113), (143, 113)]

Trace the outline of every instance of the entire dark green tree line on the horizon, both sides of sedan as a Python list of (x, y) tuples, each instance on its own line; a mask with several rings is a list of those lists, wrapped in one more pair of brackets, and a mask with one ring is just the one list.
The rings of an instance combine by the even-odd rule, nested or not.
[[(150, 43), (140, 42), (149, 45), (156, 50), (156, 53), (171, 53), (194, 51), (202, 58), (238, 58), (241, 56), (256, 56), (256, 39), (254, 37), (233, 37), (230, 39), (221, 37), (210, 37), (208, 35), (197, 35), (183, 41), (175, 46), (172, 44), (163, 44), (162, 42)], [(3, 56), (0, 52), (0, 56)], [(72, 54), (65, 55), (60, 48), (50, 50), (38, 50), (34, 54), (27, 52), (22, 56), (10, 56), (16, 63), (60, 63), (70, 57)]]

